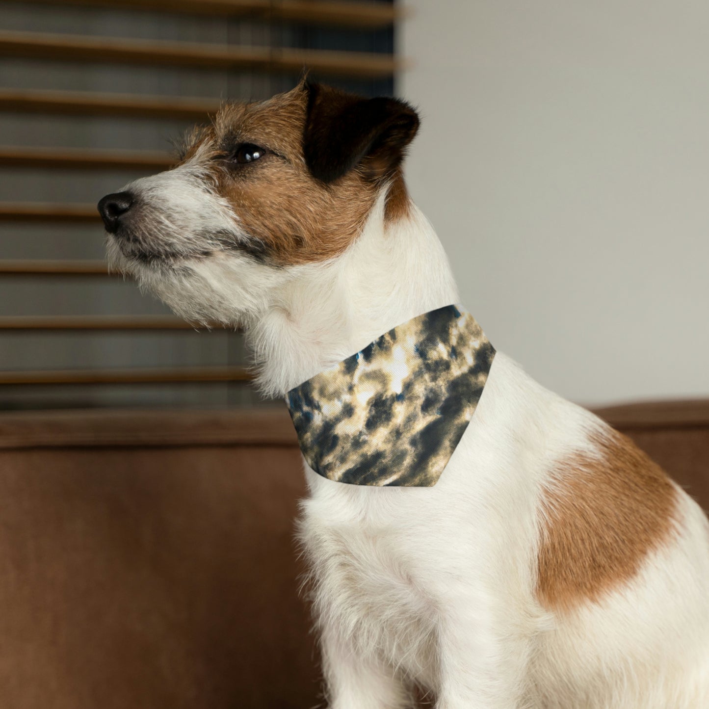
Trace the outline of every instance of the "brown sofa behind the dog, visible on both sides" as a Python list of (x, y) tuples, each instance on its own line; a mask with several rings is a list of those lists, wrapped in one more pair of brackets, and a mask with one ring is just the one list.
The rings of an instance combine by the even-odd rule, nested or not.
[[(600, 411), (709, 507), (709, 402)], [(0, 414), (0, 706), (318, 705), (273, 411)]]

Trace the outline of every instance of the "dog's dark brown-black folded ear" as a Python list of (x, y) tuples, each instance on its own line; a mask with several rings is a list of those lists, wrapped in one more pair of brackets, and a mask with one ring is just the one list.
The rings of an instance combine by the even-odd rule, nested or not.
[(418, 115), (404, 101), (362, 99), (306, 82), (303, 155), (313, 177), (333, 182), (362, 165), (369, 179), (393, 174), (418, 130)]

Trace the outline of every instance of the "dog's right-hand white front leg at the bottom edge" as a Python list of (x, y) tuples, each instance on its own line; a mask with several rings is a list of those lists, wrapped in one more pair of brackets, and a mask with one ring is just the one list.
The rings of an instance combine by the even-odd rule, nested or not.
[(440, 621), (436, 709), (532, 709), (529, 641), (509, 620), (462, 611)]

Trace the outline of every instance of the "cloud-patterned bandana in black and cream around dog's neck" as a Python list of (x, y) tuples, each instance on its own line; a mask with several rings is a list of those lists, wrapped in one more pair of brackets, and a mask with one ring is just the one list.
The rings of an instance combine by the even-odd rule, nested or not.
[(352, 485), (435, 485), (495, 350), (457, 306), (424, 313), (286, 395), (308, 465)]

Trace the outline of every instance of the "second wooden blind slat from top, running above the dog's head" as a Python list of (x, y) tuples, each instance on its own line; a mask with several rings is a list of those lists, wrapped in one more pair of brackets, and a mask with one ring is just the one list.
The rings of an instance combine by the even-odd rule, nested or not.
[(391, 77), (401, 67), (391, 55), (368, 52), (237, 47), (13, 31), (0, 32), (0, 56), (290, 74), (300, 74), (303, 68), (308, 68), (318, 74), (362, 79)]

